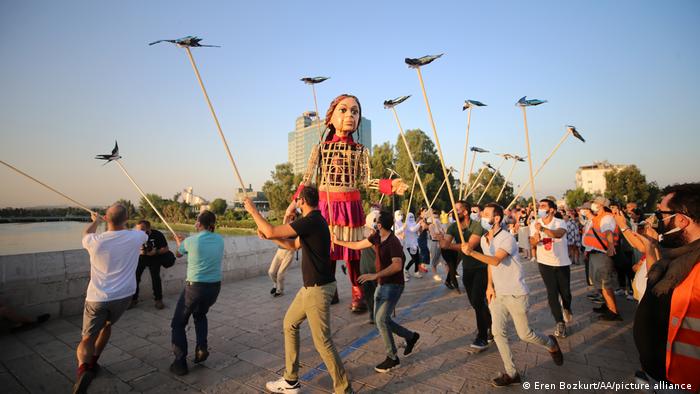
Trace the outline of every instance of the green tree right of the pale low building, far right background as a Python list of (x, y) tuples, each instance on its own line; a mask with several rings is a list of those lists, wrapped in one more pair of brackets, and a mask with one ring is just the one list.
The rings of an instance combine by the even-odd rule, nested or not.
[(647, 183), (646, 176), (635, 165), (605, 173), (605, 197), (622, 204), (636, 202), (649, 211), (656, 206), (659, 187), (655, 182)]

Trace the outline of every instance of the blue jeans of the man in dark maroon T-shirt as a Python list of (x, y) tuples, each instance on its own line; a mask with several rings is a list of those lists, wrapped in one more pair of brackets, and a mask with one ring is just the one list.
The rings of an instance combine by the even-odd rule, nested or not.
[(406, 340), (413, 337), (414, 332), (391, 320), (391, 314), (396, 308), (396, 304), (403, 293), (403, 285), (383, 284), (377, 287), (374, 292), (374, 321), (377, 325), (379, 335), (384, 340), (386, 355), (396, 360), (396, 344), (394, 336), (396, 334)]

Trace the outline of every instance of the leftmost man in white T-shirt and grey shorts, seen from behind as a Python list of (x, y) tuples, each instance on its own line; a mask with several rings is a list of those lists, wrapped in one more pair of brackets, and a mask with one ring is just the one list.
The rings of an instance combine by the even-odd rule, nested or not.
[[(112, 333), (112, 324), (131, 304), (136, 292), (136, 267), (141, 245), (148, 235), (127, 230), (126, 207), (114, 204), (104, 218), (92, 215), (83, 232), (83, 248), (90, 255), (90, 283), (83, 310), (83, 331), (78, 344), (78, 379), (73, 393), (85, 393), (95, 377), (100, 357)], [(97, 226), (107, 222), (107, 231), (97, 234)]]

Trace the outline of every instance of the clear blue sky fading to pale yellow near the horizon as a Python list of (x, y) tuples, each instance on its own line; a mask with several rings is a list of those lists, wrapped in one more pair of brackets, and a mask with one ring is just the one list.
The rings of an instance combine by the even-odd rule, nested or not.
[[(183, 49), (148, 46), (197, 35), (221, 48), (194, 57), (243, 181), (259, 190), (287, 161), (287, 133), (340, 93), (359, 97), (373, 144), (398, 128), (434, 139), (416, 71), (405, 57), (445, 55), (422, 69), (443, 154), (461, 168), (465, 99), (470, 145), (526, 155), (521, 96), (535, 168), (577, 127), (537, 178), (537, 193), (575, 187), (595, 161), (635, 164), (659, 185), (698, 181), (700, 2), (697, 1), (20, 1), (0, 2), (0, 159), (88, 205), (187, 186), (233, 199), (238, 181)], [(498, 165), (492, 154), (481, 155)], [(509, 165), (502, 168), (503, 172)], [(512, 177), (527, 180), (527, 165)], [(64, 205), (0, 168), (0, 207)]]

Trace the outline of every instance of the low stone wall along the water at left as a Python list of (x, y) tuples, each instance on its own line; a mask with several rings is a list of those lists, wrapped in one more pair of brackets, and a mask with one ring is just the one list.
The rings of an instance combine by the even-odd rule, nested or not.
[[(266, 275), (277, 246), (255, 236), (224, 238), (223, 281), (232, 282)], [(176, 245), (170, 243), (170, 249)], [(296, 264), (296, 260), (293, 261)], [(164, 294), (182, 291), (187, 261), (161, 269)], [(141, 277), (140, 298), (152, 299), (148, 270)], [(90, 279), (90, 259), (84, 249), (0, 256), (0, 298), (22, 314), (82, 313)]]

